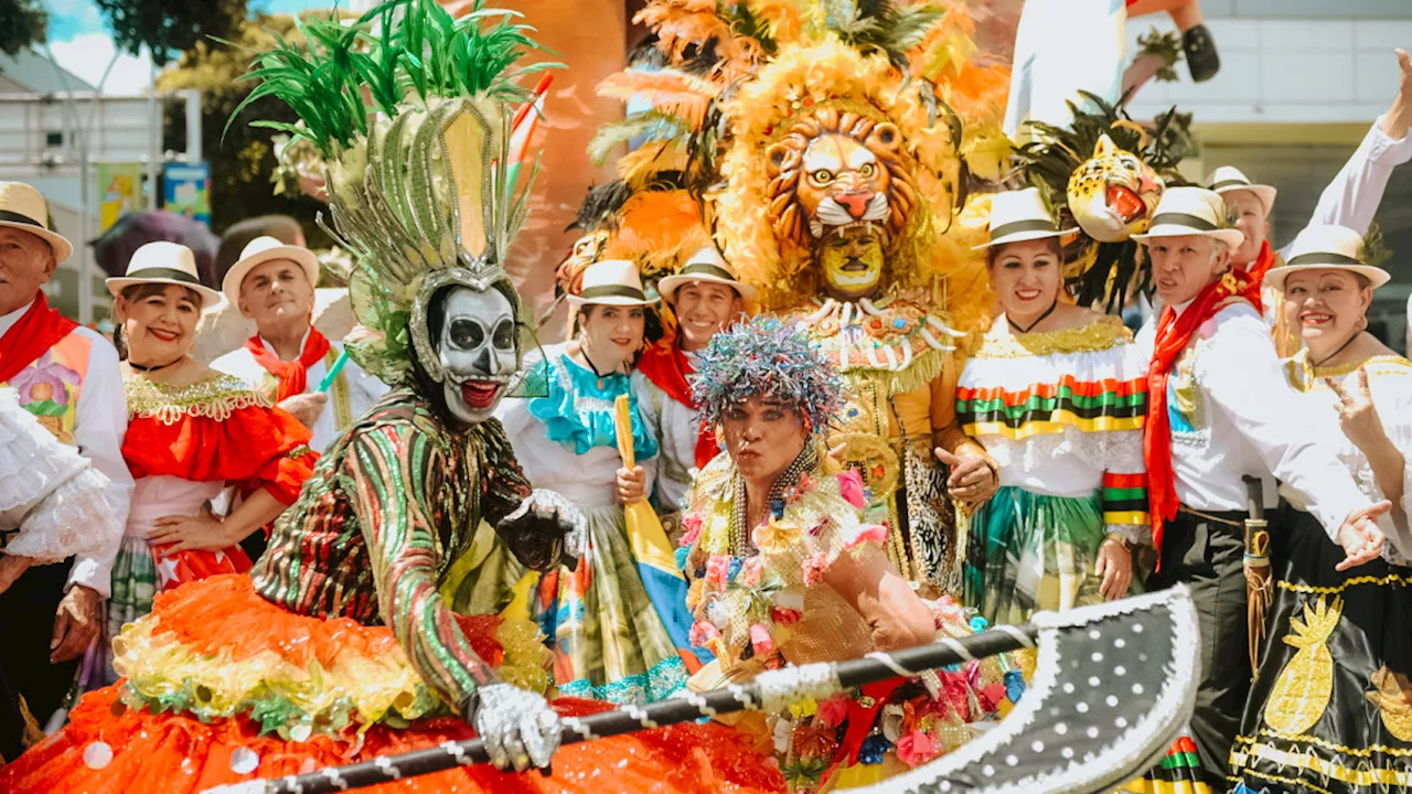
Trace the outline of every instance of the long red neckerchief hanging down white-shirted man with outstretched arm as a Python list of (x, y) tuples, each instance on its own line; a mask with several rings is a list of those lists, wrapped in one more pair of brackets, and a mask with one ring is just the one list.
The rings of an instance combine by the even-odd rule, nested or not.
[(1142, 431), (1142, 459), (1148, 468), (1148, 497), (1151, 500), (1152, 543), (1158, 559), (1162, 554), (1162, 523), (1176, 517), (1176, 473), (1172, 470), (1172, 427), (1166, 415), (1166, 379), (1186, 349), (1192, 335), (1203, 322), (1216, 316), (1233, 301), (1247, 301), (1260, 311), (1260, 283), (1244, 270), (1230, 273), (1197, 292), (1180, 316), (1172, 307), (1162, 309), (1148, 367), (1148, 415)]

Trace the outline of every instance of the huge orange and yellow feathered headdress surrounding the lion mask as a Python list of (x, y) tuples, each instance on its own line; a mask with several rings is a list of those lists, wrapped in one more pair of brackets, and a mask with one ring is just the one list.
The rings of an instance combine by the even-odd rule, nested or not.
[(623, 191), (669, 177), (702, 205), (706, 229), (743, 278), (762, 290), (762, 308), (788, 308), (784, 301), (813, 294), (816, 274), (809, 251), (767, 220), (778, 201), (765, 150), (801, 110), (825, 105), (850, 124), (894, 124), (916, 185), (897, 199), (912, 212), (890, 244), (888, 270), (907, 290), (931, 290), (962, 326), (983, 319), (984, 260), (970, 251), (983, 230), (953, 225), (952, 211), (966, 203), (963, 158), (993, 179), (1010, 155), (1000, 131), (1010, 75), (974, 58), (964, 3), (648, 0), (634, 21), (652, 31), (652, 48), (599, 90), (650, 109), (600, 127), (590, 146), (607, 161), (620, 144), (635, 144), (617, 161)]

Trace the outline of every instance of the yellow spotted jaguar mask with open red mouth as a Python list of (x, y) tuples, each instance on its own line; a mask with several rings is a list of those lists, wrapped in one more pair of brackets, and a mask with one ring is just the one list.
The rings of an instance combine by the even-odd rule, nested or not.
[(1152, 225), (1165, 185), (1151, 165), (1099, 137), (1093, 157), (1069, 177), (1069, 211), (1100, 243), (1121, 243)]

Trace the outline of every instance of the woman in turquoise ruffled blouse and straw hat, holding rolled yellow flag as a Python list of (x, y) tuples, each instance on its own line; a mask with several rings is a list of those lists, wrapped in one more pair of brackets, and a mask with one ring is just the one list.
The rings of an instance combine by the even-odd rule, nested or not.
[[(569, 294), (578, 311), (573, 340), (525, 360), (527, 400), (501, 403), (515, 458), (535, 487), (555, 490), (589, 520), (589, 548), (576, 571), (561, 569), (546, 622), (555, 678), (563, 695), (651, 702), (686, 681), (686, 663), (666, 629), (676, 603), (654, 603), (634, 557), (623, 504), (651, 493), (657, 439), (631, 398), (628, 373), (642, 348), (648, 301), (631, 261), (590, 264)], [(628, 394), (633, 449), (641, 462), (635, 489), (618, 487), (614, 400)], [(685, 624), (685, 619), (675, 620)]]

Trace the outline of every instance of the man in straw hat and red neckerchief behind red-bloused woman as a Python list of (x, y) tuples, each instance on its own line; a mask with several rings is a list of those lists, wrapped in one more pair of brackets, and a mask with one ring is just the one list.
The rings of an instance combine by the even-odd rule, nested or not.
[(256, 335), (212, 367), (275, 400), (313, 432), (311, 446), (322, 452), (387, 394), (387, 386), (347, 360), (342, 342), (313, 326), (318, 283), (319, 260), (309, 249), (270, 236), (250, 240), (222, 291), (254, 321)]

